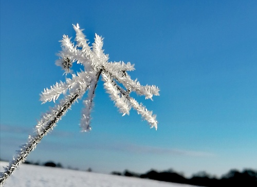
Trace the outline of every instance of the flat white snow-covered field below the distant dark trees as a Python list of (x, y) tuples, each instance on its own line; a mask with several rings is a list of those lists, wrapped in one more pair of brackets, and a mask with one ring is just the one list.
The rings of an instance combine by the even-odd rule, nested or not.
[[(0, 162), (1, 172), (7, 162)], [(190, 187), (192, 185), (22, 164), (5, 187)]]

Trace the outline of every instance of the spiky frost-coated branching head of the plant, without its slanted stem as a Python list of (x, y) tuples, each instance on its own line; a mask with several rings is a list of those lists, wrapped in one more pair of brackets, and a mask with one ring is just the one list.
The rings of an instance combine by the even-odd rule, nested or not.
[[(78, 24), (74, 25), (74, 29), (76, 31), (76, 44), (72, 43), (67, 35), (63, 35), (62, 51), (59, 53), (60, 59), (57, 60), (56, 65), (61, 66), (66, 73), (72, 72), (72, 63), (83, 65), (84, 70), (72, 74), (71, 79), (66, 78), (65, 83), (56, 83), (49, 89), (44, 89), (41, 94), (41, 101), (43, 103), (47, 101), (55, 102), (61, 94), (64, 94), (66, 99), (75, 95), (81, 98), (88, 91), (88, 97), (83, 101), (85, 108), (82, 110), (80, 123), (82, 131), (88, 131), (91, 129), (90, 110), (93, 107), (95, 89), (101, 76), (106, 92), (114, 101), (120, 113), (129, 115), (130, 109), (134, 108), (144, 120), (148, 121), (151, 127), (157, 129), (156, 115), (153, 115), (152, 111), (147, 110), (145, 106), (130, 97), (130, 93), (135, 91), (140, 96), (144, 95), (145, 99), (152, 99), (153, 95), (159, 95), (159, 88), (154, 85), (141, 86), (137, 80), (132, 80), (127, 74), (127, 71), (135, 69), (130, 62), (108, 62), (108, 55), (102, 49), (103, 38), (101, 36), (96, 34), (95, 42), (92, 46), (89, 46), (82, 32), (83, 30), (80, 29)], [(47, 114), (43, 118), (47, 118)], [(39, 130), (44, 129), (42, 122), (37, 127)]]

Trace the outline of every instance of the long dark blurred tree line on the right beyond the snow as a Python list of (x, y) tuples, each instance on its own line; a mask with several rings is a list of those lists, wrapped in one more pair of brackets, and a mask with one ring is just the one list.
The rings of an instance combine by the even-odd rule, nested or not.
[(177, 173), (173, 170), (162, 172), (150, 170), (144, 174), (137, 174), (125, 170), (123, 173), (112, 172), (112, 174), (198, 186), (257, 186), (257, 171), (251, 169), (245, 169), (242, 172), (230, 170), (227, 174), (222, 175), (220, 178), (211, 176), (206, 172), (198, 172), (197, 174), (193, 174), (192, 177), (187, 178), (183, 176), (183, 174)]

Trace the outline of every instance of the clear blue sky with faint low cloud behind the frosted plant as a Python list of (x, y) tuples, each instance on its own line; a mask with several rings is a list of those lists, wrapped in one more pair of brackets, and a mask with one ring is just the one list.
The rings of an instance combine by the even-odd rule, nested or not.
[(257, 169), (256, 10), (256, 1), (1, 1), (1, 158), (53, 106), (39, 94), (64, 80), (58, 41), (79, 23), (91, 43), (103, 36), (110, 61), (135, 64), (133, 79), (160, 88), (154, 102), (136, 97), (158, 130), (135, 111), (122, 117), (99, 82), (91, 132), (80, 132), (80, 101), (28, 160), (101, 173)]

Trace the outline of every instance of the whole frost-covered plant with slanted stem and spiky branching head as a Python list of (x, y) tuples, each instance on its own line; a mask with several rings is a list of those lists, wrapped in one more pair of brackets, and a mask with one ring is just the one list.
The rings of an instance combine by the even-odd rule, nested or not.
[(65, 82), (56, 83), (46, 88), (40, 95), (42, 103), (47, 101), (55, 102), (61, 94), (64, 95), (59, 104), (42, 115), (41, 120), (35, 126), (34, 135), (28, 137), (26, 144), (20, 147), (9, 166), (1, 173), (0, 185), (15, 171), (15, 169), (25, 161), (28, 154), (33, 151), (36, 144), (50, 130), (56, 126), (56, 123), (65, 115), (70, 106), (87, 91), (87, 98), (83, 101), (85, 107), (82, 110), (82, 118), (80, 126), (83, 132), (87, 132), (90, 127), (90, 111), (93, 107), (93, 99), (95, 89), (101, 76), (104, 81), (104, 88), (109, 94), (115, 105), (119, 108), (120, 113), (124, 115), (130, 114), (130, 109), (134, 108), (142, 118), (150, 124), (151, 128), (157, 129), (156, 115), (148, 110), (141, 103), (139, 104), (130, 96), (132, 91), (138, 95), (144, 95), (145, 99), (151, 99), (153, 95), (159, 95), (159, 89), (156, 86), (141, 86), (137, 80), (132, 80), (127, 74), (127, 71), (134, 70), (134, 65), (130, 62), (108, 62), (108, 54), (102, 49), (103, 38), (95, 35), (95, 42), (89, 46), (85, 35), (82, 33), (79, 25), (74, 25), (76, 31), (76, 44), (70, 41), (67, 35), (63, 35), (61, 42), (62, 51), (58, 54), (59, 60), (56, 65), (61, 66), (65, 73), (72, 73), (71, 67), (73, 63), (78, 63), (83, 66), (84, 70), (77, 73), (72, 73), (71, 78), (66, 77)]

